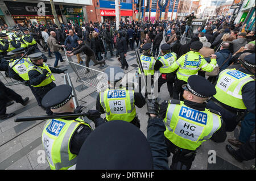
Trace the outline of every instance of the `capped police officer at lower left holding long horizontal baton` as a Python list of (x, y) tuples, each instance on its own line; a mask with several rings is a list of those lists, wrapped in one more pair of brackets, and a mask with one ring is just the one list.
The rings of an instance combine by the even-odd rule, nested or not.
[[(48, 91), (42, 99), (42, 104), (50, 109), (53, 115), (71, 115), (82, 111), (81, 107), (75, 108), (72, 87), (69, 85), (56, 86)], [(105, 123), (100, 117), (100, 112), (96, 110), (88, 111), (87, 115), (96, 128)], [(79, 116), (47, 120), (42, 132), (42, 143), (51, 169), (67, 170), (74, 166), (82, 144), (92, 131), (92, 127)]]

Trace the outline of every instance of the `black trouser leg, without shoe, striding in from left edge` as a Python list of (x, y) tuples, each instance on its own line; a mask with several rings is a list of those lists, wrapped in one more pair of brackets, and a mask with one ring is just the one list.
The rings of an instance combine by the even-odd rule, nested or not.
[(6, 113), (6, 103), (11, 100), (15, 100), (16, 103), (20, 104), (24, 103), (22, 96), (0, 82), (0, 115), (4, 115)]

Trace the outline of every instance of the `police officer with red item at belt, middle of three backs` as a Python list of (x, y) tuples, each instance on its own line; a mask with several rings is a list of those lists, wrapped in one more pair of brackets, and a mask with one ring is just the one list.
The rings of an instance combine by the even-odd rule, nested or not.
[(171, 65), (177, 60), (176, 53), (171, 52), (170, 44), (161, 45), (162, 56), (155, 62), (154, 70), (159, 70), (162, 73), (158, 79), (158, 92), (161, 86), (167, 82), (167, 88), (172, 97), (173, 83), (176, 76), (176, 71), (170, 72)]

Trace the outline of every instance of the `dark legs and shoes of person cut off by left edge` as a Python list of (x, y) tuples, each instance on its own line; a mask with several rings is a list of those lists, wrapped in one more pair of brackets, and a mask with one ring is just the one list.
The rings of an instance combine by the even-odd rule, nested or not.
[(15, 113), (6, 113), (7, 103), (9, 103), (10, 100), (15, 100), (16, 103), (20, 103), (22, 104), (22, 106), (26, 106), (29, 98), (26, 97), (25, 99), (23, 99), (22, 96), (17, 94), (9, 87), (6, 87), (0, 81), (0, 120), (9, 119), (10, 117), (16, 115)]

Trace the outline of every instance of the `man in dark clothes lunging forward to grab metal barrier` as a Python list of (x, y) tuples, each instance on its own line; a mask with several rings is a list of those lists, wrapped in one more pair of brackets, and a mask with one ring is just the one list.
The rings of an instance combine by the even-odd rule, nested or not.
[[(84, 40), (81, 38), (77, 39), (77, 43), (79, 44), (78, 47), (73, 49), (72, 51), (67, 51), (67, 56), (73, 56), (74, 54), (79, 54), (84, 52), (86, 57), (85, 57), (85, 66), (89, 67), (89, 62), (92, 60), (94, 62), (93, 66), (96, 66), (98, 64), (101, 64), (101, 66), (104, 66), (106, 64), (105, 60), (97, 61), (95, 53), (93, 50), (85, 44)], [(89, 69), (87, 69), (86, 73), (89, 73)]]

